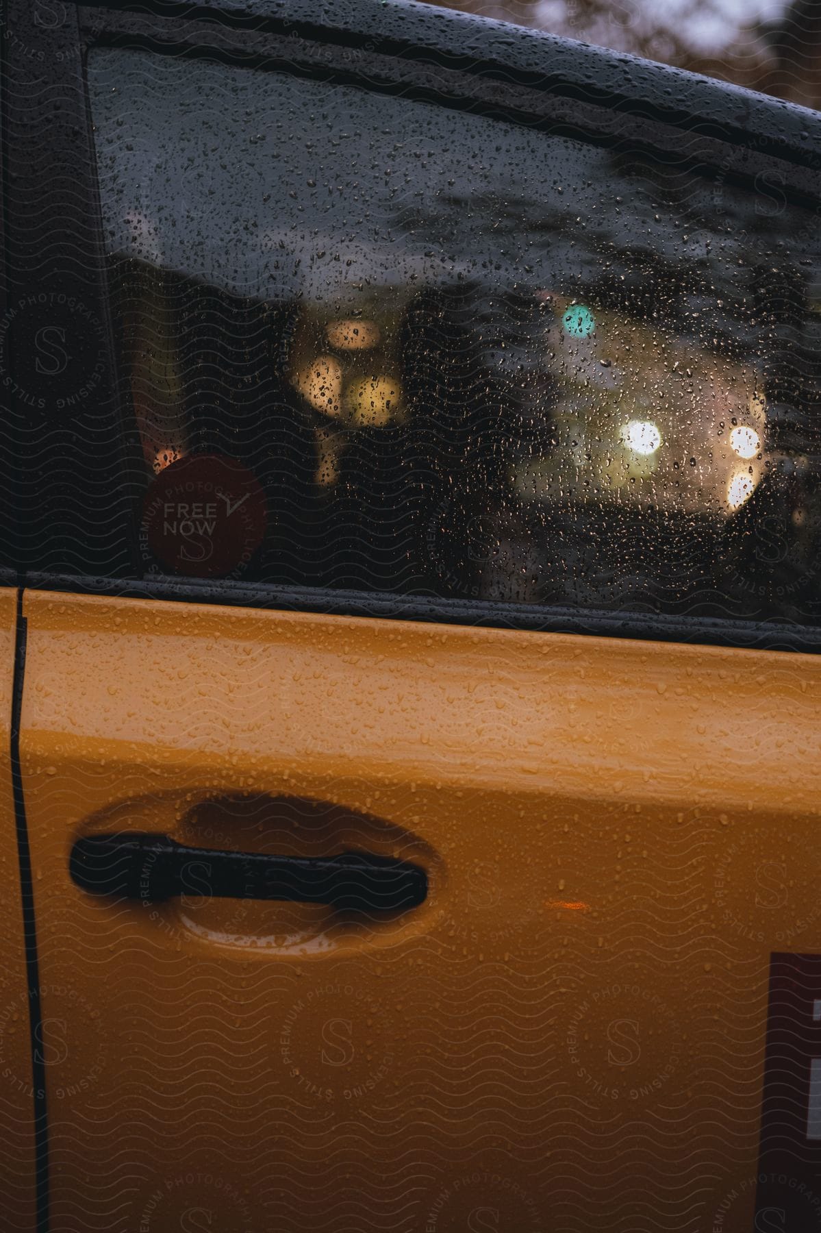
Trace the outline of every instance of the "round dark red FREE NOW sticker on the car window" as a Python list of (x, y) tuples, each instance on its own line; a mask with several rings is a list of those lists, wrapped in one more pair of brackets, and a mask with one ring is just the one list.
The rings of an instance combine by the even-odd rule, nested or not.
[(145, 493), (141, 547), (175, 573), (239, 577), (265, 523), (265, 493), (253, 471), (235, 459), (194, 454), (160, 471)]

